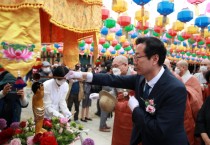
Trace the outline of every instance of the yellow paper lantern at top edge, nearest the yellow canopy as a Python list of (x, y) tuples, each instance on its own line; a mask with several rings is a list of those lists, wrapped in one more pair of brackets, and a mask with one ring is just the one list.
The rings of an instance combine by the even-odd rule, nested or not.
[(115, 0), (112, 3), (112, 10), (117, 13), (123, 13), (128, 10), (128, 3), (125, 0)]

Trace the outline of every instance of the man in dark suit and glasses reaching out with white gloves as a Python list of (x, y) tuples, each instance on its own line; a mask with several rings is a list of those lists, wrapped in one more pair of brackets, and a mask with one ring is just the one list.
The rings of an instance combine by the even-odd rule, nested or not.
[(128, 103), (133, 121), (130, 145), (188, 145), (184, 130), (186, 88), (163, 65), (165, 57), (166, 49), (159, 39), (138, 38), (134, 55), (137, 75), (69, 72), (66, 78), (135, 90)]

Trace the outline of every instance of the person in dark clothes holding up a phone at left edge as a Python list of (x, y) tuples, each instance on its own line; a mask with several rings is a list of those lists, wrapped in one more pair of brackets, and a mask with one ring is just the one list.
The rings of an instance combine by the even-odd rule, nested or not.
[(24, 95), (24, 90), (14, 88), (16, 78), (7, 72), (0, 81), (0, 118), (7, 121), (7, 126), (13, 122), (19, 122), (21, 118), (21, 108), (28, 106), (28, 99)]

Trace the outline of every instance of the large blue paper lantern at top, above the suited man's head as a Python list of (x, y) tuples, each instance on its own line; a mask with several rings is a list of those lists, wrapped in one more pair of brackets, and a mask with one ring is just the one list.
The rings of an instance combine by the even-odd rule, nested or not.
[(167, 1), (162, 1), (158, 3), (157, 7), (158, 13), (163, 16), (167, 16), (174, 11), (174, 3)]

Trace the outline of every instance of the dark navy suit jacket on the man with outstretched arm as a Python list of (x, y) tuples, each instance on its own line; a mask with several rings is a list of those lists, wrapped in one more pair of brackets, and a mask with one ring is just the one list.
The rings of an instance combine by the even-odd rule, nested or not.
[[(155, 114), (145, 110), (141, 99), (145, 78), (140, 75), (114, 76), (94, 74), (93, 84), (132, 89), (139, 107), (132, 113), (133, 131), (130, 145), (188, 145), (184, 130), (187, 91), (182, 82), (165, 67), (165, 71), (149, 94), (154, 99)], [(126, 118), (125, 118), (126, 119)]]

